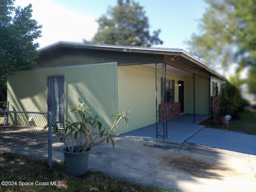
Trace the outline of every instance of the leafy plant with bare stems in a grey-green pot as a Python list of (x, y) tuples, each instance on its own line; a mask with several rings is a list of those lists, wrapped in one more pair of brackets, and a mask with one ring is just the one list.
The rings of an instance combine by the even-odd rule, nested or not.
[[(83, 103), (84, 104), (84, 103)], [(64, 128), (59, 128), (60, 121), (52, 122), (52, 124), (47, 124), (44, 126), (44, 129), (52, 127), (56, 136), (60, 138), (60, 141), (64, 143), (65, 150), (68, 152), (86, 152), (89, 148), (93, 146), (101, 145), (103, 142), (112, 142), (114, 148), (114, 141), (111, 138), (110, 134), (118, 123), (124, 119), (128, 126), (128, 118), (126, 115), (128, 111), (121, 112), (119, 114), (114, 114), (116, 119), (112, 125), (112, 128), (109, 132), (106, 132), (105, 129), (102, 130), (102, 123), (98, 121), (98, 116), (87, 116), (86, 113), (92, 112), (88, 108), (83, 108), (83, 104), (79, 106), (71, 106), (71, 114), (79, 113), (81, 121), (80, 122), (70, 122), (65, 121)], [(98, 128), (98, 134), (95, 134), (95, 130)], [(68, 143), (68, 140), (71, 140), (71, 146)]]

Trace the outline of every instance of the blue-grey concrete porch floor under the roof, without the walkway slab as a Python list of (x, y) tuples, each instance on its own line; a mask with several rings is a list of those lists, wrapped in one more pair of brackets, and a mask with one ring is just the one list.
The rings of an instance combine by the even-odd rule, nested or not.
[[(196, 114), (195, 124), (193, 124), (193, 114), (184, 114), (167, 120), (168, 138), (166, 138), (165, 141), (179, 144), (185, 142), (193, 135), (195, 135), (197, 132), (202, 130), (202, 128), (204, 128), (204, 125), (198, 125), (198, 123), (202, 122), (208, 117), (208, 115)], [(158, 124), (158, 129), (162, 130), (162, 124)], [(121, 134), (120, 136), (156, 140), (156, 124), (142, 127)], [(157, 140), (164, 140), (164, 138), (158, 136)]]

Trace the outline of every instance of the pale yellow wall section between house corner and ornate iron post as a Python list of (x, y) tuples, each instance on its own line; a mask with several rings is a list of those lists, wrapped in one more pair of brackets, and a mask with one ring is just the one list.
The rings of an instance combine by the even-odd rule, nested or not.
[(119, 134), (156, 123), (155, 70), (144, 66), (118, 66), (118, 110), (128, 110)]

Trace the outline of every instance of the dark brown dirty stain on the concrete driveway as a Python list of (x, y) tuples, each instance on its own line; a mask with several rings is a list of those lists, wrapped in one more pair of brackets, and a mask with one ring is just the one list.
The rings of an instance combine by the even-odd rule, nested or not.
[(221, 172), (231, 171), (230, 168), (226, 168), (223, 165), (204, 162), (184, 155), (170, 156), (170, 158), (164, 160), (161, 164), (201, 178), (222, 179), (223, 174)]

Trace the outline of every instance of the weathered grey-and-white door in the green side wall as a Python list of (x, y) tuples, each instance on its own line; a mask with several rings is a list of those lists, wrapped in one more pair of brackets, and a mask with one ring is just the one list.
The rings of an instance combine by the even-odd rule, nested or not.
[[(64, 122), (64, 77), (48, 77), (48, 111), (52, 112), (52, 122)], [(63, 123), (60, 123), (63, 127)]]

